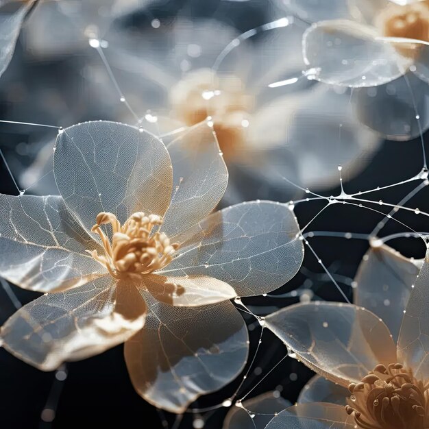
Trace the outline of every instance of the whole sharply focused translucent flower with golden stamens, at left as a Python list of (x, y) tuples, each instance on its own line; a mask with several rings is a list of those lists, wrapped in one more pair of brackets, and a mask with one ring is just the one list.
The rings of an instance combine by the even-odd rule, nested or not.
[(0, 195), (0, 274), (44, 292), (1, 328), (6, 350), (49, 371), (125, 341), (138, 393), (175, 413), (243, 368), (245, 323), (230, 302), (295, 275), (304, 254), (286, 205), (210, 215), (228, 171), (207, 123), (168, 149), (143, 129), (60, 130), (59, 196)]

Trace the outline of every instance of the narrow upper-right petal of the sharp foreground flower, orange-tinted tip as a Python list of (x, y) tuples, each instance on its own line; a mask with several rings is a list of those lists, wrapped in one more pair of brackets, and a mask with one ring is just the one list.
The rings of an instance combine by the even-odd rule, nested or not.
[(228, 170), (206, 121), (182, 133), (167, 149), (174, 191), (161, 230), (175, 236), (216, 208), (228, 184)]

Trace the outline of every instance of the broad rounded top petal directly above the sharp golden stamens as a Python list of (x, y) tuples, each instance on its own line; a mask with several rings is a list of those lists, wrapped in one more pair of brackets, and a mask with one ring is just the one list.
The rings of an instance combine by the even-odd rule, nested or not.
[(53, 172), (67, 208), (87, 231), (100, 212), (123, 223), (134, 212), (163, 216), (169, 206), (169, 153), (153, 134), (129, 125), (97, 121), (62, 130)]

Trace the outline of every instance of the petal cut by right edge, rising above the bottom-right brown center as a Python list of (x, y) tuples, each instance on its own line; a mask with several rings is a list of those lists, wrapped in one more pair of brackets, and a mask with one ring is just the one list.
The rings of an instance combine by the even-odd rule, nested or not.
[(419, 272), (402, 319), (397, 340), (397, 355), (400, 362), (413, 369), (417, 379), (426, 379), (429, 374), (429, 252)]

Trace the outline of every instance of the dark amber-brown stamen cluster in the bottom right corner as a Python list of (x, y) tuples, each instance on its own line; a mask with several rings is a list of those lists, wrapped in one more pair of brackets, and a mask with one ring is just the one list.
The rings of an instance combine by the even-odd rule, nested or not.
[(400, 363), (377, 365), (358, 384), (345, 406), (362, 429), (428, 428), (429, 383), (417, 380)]

